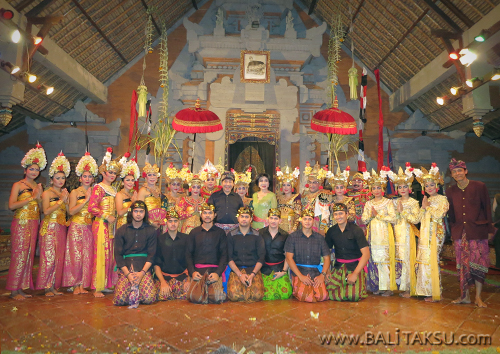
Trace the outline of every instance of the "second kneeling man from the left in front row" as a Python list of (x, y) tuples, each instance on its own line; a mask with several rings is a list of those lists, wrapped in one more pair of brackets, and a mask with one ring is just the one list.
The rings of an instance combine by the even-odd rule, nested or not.
[(158, 236), (154, 261), (156, 298), (162, 301), (186, 300), (189, 289), (186, 246), (189, 236), (177, 231), (177, 211), (167, 210), (166, 219), (166, 232)]

